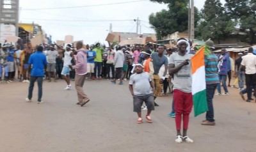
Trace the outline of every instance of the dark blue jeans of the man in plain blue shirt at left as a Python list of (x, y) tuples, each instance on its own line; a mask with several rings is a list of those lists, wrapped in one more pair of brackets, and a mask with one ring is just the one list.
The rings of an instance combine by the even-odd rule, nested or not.
[(38, 86), (38, 102), (41, 102), (42, 95), (43, 95), (43, 76), (42, 77), (30, 77), (30, 84), (28, 89), (28, 98), (31, 100), (33, 95), (33, 89), (35, 81), (37, 80), (37, 86)]

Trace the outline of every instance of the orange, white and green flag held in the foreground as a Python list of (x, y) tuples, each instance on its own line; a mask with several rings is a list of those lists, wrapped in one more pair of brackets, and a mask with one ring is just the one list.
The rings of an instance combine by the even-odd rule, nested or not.
[(192, 95), (195, 117), (208, 110), (206, 100), (204, 49), (202, 47), (191, 57), (192, 66)]

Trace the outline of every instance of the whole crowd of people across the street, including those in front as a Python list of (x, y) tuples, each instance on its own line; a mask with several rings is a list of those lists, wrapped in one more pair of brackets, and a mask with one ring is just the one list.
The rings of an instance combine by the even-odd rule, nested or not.
[[(38, 82), (38, 103), (42, 103), (42, 82), (47, 80), (57, 82), (64, 79), (67, 83), (65, 90), (72, 89), (70, 81), (75, 81), (77, 91), (77, 105), (85, 105), (90, 98), (84, 93), (84, 80), (111, 80), (111, 84), (123, 85), (129, 80), (129, 90), (133, 96), (133, 111), (138, 114), (137, 123), (143, 123), (141, 109), (147, 110), (145, 118), (152, 123), (150, 114), (155, 106), (158, 96), (173, 93), (172, 112), (168, 116), (175, 118), (177, 137), (175, 142), (193, 142), (188, 137), (189, 114), (193, 107), (191, 93), (191, 57), (196, 50), (191, 50), (191, 44), (184, 39), (177, 40), (177, 47), (166, 49), (164, 45), (145, 46), (134, 45), (120, 46), (95, 43), (95, 45), (83, 45), (77, 42), (65, 46), (39, 45), (32, 49), (30, 43), (26, 44), (23, 50), (19, 45), (14, 49), (13, 45), (4, 44), (0, 47), (1, 78), (4, 70), (4, 77), (1, 82), (10, 83), (15, 79), (20, 82), (29, 83), (27, 102), (31, 102), (35, 81)], [(205, 42), (211, 54), (205, 55), (205, 82), (208, 111), (202, 125), (215, 125), (214, 107), (212, 99), (216, 89), (216, 95), (228, 95), (228, 87), (236, 87), (244, 99), (247, 93), (246, 102), (256, 101), (256, 56), (253, 48), (250, 47), (244, 54), (239, 52), (236, 61), (233, 61), (230, 54), (222, 49), (220, 54), (214, 54), (214, 46), (211, 40)], [(17, 72), (17, 74), (15, 74)], [(236, 74), (236, 80), (230, 85), (231, 73)], [(228, 85), (227, 85), (228, 77)], [(244, 78), (246, 88), (244, 89)], [(110, 82), (109, 82), (110, 83)], [(221, 93), (223, 86), (224, 93)], [(163, 92), (163, 93), (162, 93)], [(145, 102), (145, 105), (143, 103)], [(181, 124), (183, 121), (183, 132)]]

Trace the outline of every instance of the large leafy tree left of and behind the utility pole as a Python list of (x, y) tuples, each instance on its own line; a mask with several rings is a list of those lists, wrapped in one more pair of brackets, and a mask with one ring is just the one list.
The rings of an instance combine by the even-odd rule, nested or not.
[[(149, 16), (149, 23), (155, 29), (158, 39), (176, 31), (184, 32), (188, 29), (188, 0), (150, 1), (168, 4), (168, 10), (152, 13)], [(195, 25), (198, 20), (198, 9), (195, 8)]]

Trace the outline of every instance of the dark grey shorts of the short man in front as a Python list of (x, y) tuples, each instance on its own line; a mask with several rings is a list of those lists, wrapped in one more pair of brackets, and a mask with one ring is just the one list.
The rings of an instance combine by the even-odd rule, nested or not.
[(155, 110), (154, 107), (154, 95), (150, 93), (144, 96), (133, 96), (133, 112), (141, 112), (141, 106), (145, 102), (148, 110)]

